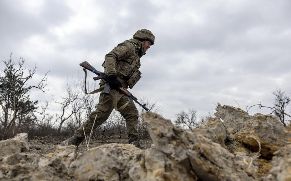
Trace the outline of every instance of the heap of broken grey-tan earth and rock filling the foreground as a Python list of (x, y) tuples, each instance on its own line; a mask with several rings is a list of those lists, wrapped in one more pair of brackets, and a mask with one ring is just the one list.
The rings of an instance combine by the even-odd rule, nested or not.
[(27, 134), (0, 142), (0, 180), (291, 180), (291, 132), (273, 115), (218, 104), (192, 131), (146, 112), (153, 145), (107, 144), (41, 155)]

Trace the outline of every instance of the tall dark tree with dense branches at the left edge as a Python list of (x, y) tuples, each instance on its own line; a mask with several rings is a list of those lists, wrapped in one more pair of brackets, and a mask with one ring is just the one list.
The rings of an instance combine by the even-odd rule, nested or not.
[[(30, 79), (36, 72), (36, 64), (33, 69), (26, 69), (24, 63), (25, 59), (21, 57), (17, 63), (12, 60), (12, 53), (8, 60), (3, 61), (5, 68), (3, 73), (5, 76), (0, 77), (0, 106), (4, 112), (5, 128), (15, 126), (18, 119), (18, 125), (21, 125), (22, 119), (31, 114), (33, 110), (37, 109), (37, 101), (30, 101), (29, 94), (32, 89), (39, 89), (46, 92), (47, 73), (36, 85), (28, 85)], [(26, 72), (26, 74), (25, 74)], [(14, 129), (13, 129), (14, 130)], [(12, 132), (13, 136), (13, 132)]]

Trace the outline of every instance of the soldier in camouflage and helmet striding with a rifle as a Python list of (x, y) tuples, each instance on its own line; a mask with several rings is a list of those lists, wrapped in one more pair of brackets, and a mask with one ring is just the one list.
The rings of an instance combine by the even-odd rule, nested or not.
[[(133, 35), (133, 39), (125, 40), (105, 55), (105, 61), (102, 66), (104, 67), (104, 73), (109, 76), (109, 85), (112, 90), (109, 95), (100, 94), (96, 110), (91, 112), (89, 119), (83, 123), (84, 130), (83, 126), (80, 126), (75, 131), (74, 136), (63, 141), (61, 145), (78, 146), (85, 139), (85, 135), (90, 134), (92, 127), (95, 129), (108, 119), (113, 108), (115, 107), (116, 109), (117, 105), (117, 107), (125, 106), (125, 108), (118, 111), (125, 119), (128, 142), (138, 148), (142, 148), (139, 145), (139, 132), (137, 131), (138, 110), (134, 102), (118, 90), (120, 86), (132, 89), (141, 78), (141, 72), (139, 71), (140, 58), (146, 54), (147, 49), (154, 42), (155, 36), (152, 32), (147, 29), (141, 29)], [(99, 85), (100, 88), (105, 87), (105, 82), (101, 80)]]

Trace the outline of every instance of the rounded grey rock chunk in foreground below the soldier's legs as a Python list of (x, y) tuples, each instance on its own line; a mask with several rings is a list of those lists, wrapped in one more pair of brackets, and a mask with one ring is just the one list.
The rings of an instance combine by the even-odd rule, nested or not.
[(78, 156), (70, 172), (77, 180), (127, 180), (129, 169), (142, 152), (132, 144), (99, 146)]

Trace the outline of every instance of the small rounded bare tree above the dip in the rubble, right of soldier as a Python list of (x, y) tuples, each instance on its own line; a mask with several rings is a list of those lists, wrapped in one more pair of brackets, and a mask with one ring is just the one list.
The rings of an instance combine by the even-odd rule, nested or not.
[(186, 126), (186, 129), (192, 130), (193, 128), (198, 127), (199, 121), (196, 116), (197, 111), (195, 109), (189, 109), (188, 112), (181, 111), (176, 113), (175, 125), (181, 125), (183, 127)]

